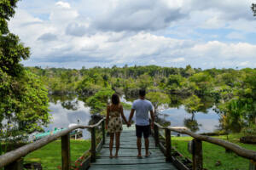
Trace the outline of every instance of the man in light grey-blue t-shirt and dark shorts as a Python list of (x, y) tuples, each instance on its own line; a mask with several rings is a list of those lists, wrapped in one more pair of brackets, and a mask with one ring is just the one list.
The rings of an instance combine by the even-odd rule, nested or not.
[(150, 125), (149, 125), (149, 117), (148, 111), (150, 111), (151, 116), (151, 127), (154, 128), (154, 113), (153, 113), (153, 105), (150, 101), (145, 99), (146, 91), (144, 89), (139, 91), (139, 99), (135, 100), (131, 107), (131, 114), (129, 117), (129, 125), (131, 126), (131, 119), (136, 111), (136, 136), (137, 136), (137, 151), (138, 158), (142, 158), (142, 136), (145, 141), (145, 156), (148, 157), (148, 146), (149, 140), (148, 136), (150, 134)]

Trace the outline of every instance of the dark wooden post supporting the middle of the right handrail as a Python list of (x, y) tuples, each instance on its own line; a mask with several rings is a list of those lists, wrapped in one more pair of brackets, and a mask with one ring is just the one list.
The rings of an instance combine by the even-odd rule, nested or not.
[(202, 157), (202, 142), (199, 139), (193, 139), (193, 170), (202, 170), (203, 157)]

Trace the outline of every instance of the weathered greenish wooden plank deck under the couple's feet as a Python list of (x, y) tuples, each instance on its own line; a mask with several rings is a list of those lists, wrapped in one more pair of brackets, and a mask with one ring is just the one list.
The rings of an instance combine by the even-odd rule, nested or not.
[[(100, 154), (96, 157), (96, 162), (91, 163), (90, 170), (113, 170), (113, 169), (147, 169), (147, 170), (177, 170), (176, 167), (170, 162), (166, 162), (166, 157), (162, 154), (158, 147), (154, 145), (153, 137), (149, 137), (149, 151), (151, 155), (149, 157), (143, 156), (142, 159), (137, 158), (137, 144), (135, 127), (131, 126), (127, 128), (123, 126), (124, 130), (120, 137), (120, 149), (118, 158), (109, 158), (109, 138), (106, 139), (106, 144), (103, 145)], [(142, 141), (144, 143), (144, 140)], [(114, 146), (114, 145), (113, 145)], [(144, 144), (142, 147), (142, 154), (145, 154)], [(113, 155), (115, 153), (115, 147), (113, 147)]]

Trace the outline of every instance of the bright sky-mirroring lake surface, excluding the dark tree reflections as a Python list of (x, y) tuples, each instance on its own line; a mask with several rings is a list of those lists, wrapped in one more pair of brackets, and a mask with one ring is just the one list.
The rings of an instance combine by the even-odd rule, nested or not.
[[(125, 99), (121, 99), (126, 102)], [(130, 103), (130, 102), (126, 102)], [(130, 103), (131, 104), (131, 103)], [(71, 101), (50, 103), (49, 109), (52, 115), (52, 122), (45, 130), (53, 130), (55, 127), (68, 127), (72, 123), (88, 125), (91, 120), (90, 108), (84, 106), (83, 101), (73, 99)], [(128, 118), (130, 111), (125, 110), (125, 116)], [(195, 128), (196, 133), (210, 133), (218, 126), (218, 114), (212, 109), (208, 109), (207, 113), (197, 112), (194, 119), (191, 121), (192, 115), (184, 110), (184, 107), (161, 109), (159, 114), (162, 122), (171, 122), (172, 126), (186, 126), (184, 120), (192, 122), (192, 127)], [(189, 125), (187, 124), (186, 127)], [(83, 130), (84, 139), (90, 138), (90, 132)]]

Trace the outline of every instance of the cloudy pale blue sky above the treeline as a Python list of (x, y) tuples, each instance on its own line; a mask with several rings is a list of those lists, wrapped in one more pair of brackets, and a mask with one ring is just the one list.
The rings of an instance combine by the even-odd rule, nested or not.
[(256, 67), (256, 0), (22, 0), (25, 66)]

